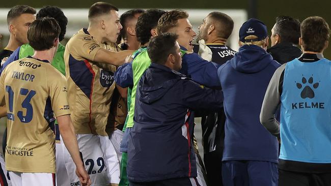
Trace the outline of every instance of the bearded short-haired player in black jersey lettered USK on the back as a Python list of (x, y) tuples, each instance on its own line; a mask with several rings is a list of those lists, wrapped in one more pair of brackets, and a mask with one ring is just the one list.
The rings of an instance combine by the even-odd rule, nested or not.
[[(225, 45), (232, 30), (233, 20), (230, 16), (221, 12), (209, 13), (199, 26), (198, 38), (201, 39), (199, 41), (201, 44), (195, 45), (193, 50), (200, 55), (201, 51), (210, 50), (210, 57), (214, 63), (218, 65), (225, 64), (236, 53)], [(209, 112), (202, 116), (204, 163), (209, 186), (223, 185), (222, 176), (220, 175), (222, 175), (224, 126), (225, 113), (223, 108), (218, 112)]]

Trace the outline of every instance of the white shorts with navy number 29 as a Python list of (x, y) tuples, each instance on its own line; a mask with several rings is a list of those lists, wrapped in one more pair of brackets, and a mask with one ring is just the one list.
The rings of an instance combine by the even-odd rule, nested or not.
[[(107, 164), (101, 149), (100, 138), (94, 134), (76, 134), (80, 156), (94, 186), (109, 185)], [(64, 162), (68, 172), (70, 185), (79, 185), (76, 166), (64, 143), (62, 144)]]

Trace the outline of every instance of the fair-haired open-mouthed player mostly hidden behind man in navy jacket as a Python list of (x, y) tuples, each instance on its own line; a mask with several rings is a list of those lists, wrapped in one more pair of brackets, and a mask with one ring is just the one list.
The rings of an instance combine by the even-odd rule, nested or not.
[[(183, 74), (189, 74), (192, 77), (192, 79), (194, 79), (198, 83), (206, 84), (211, 87), (219, 86), (217, 69), (215, 65), (213, 63), (209, 63), (209, 61), (203, 60), (198, 54), (192, 53), (193, 47), (191, 45), (191, 41), (194, 40), (196, 33), (192, 29), (192, 25), (189, 23), (189, 20), (187, 18), (188, 18), (187, 12), (182, 10), (174, 10), (167, 12), (163, 14), (159, 19), (157, 28), (151, 29), (150, 32), (154, 35), (157, 34), (155, 33), (156, 31), (158, 33), (173, 32), (175, 34), (178, 34), (179, 35), (178, 43), (182, 46), (182, 49), (184, 49), (182, 50), (182, 53), (186, 53), (187, 50), (189, 50), (190, 52), (190, 54), (185, 54), (183, 56), (183, 58), (185, 58), (186, 60), (185, 61), (183, 60), (181, 72), (183, 72)], [(139, 54), (137, 54), (133, 62), (134, 61), (136, 61), (137, 63), (132, 63), (132, 66), (127, 65), (128, 68), (124, 70), (124, 72), (120, 72), (122, 70), (120, 71), (118, 70), (117, 71), (118, 75), (116, 75), (116, 76), (122, 76), (119, 78), (120, 81), (122, 81), (121, 79), (123, 79), (123, 81), (126, 84), (131, 83), (133, 85), (130, 111), (128, 112), (129, 114), (127, 118), (126, 130), (121, 143), (122, 151), (126, 151), (128, 134), (130, 133), (130, 130), (134, 125), (133, 116), (134, 116), (135, 92), (136, 92), (137, 84), (139, 83), (139, 80), (143, 75), (143, 73), (145, 72), (145, 70), (151, 64), (146, 49), (145, 51), (142, 50)], [(117, 83), (120, 86), (122, 86), (120, 81), (117, 81)], [(193, 115), (194, 114), (191, 114), (191, 116)], [(195, 147), (197, 149), (197, 145)], [(198, 180), (200, 181), (200, 184), (203, 185), (205, 184), (202, 173), (199, 174)]]

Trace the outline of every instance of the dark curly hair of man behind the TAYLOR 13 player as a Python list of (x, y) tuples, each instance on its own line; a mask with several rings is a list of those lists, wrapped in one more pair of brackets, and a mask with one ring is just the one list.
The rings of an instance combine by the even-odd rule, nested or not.
[(68, 18), (64, 15), (64, 13), (59, 7), (54, 6), (46, 6), (39, 10), (36, 15), (36, 18), (41, 19), (44, 17), (52, 17), (57, 20), (61, 28), (59, 40), (62, 41), (67, 31)]

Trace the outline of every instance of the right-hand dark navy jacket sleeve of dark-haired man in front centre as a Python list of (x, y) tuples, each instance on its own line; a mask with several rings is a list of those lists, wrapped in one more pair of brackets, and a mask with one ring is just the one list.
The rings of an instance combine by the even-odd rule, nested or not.
[(184, 105), (190, 109), (218, 110), (223, 107), (222, 90), (202, 88), (198, 83), (185, 79), (182, 92)]

